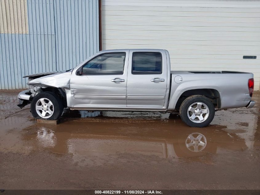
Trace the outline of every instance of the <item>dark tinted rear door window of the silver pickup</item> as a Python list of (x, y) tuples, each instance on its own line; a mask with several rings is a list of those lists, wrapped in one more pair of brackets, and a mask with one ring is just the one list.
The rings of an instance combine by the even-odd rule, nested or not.
[(162, 74), (162, 54), (160, 52), (134, 52), (132, 74)]

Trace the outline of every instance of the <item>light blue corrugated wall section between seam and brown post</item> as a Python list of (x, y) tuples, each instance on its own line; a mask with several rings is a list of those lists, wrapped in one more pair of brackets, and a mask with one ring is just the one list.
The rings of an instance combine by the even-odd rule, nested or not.
[(57, 69), (66, 70), (98, 51), (98, 0), (54, 1)]

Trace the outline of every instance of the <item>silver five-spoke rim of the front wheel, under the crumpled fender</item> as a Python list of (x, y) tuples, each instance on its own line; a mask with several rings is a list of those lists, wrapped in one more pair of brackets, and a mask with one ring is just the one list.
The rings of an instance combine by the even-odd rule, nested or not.
[(54, 113), (54, 106), (52, 102), (47, 98), (39, 99), (35, 104), (37, 114), (44, 118), (50, 118)]

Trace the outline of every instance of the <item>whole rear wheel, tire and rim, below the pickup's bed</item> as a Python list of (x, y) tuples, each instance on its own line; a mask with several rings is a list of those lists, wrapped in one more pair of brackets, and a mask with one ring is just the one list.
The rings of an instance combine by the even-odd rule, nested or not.
[(180, 116), (190, 127), (206, 127), (215, 116), (215, 108), (205, 96), (192, 95), (182, 102)]

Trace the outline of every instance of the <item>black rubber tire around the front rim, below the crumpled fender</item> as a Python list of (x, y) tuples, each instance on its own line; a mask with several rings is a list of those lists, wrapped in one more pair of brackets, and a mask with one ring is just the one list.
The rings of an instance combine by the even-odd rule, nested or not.
[[(47, 98), (49, 99), (54, 107), (54, 112), (49, 118), (42, 118), (39, 116), (36, 112), (36, 103), (41, 98)], [(47, 111), (48, 112), (48, 111)], [(38, 93), (34, 96), (32, 102), (31, 102), (31, 113), (35, 119), (41, 119), (41, 120), (57, 120), (63, 112), (63, 104), (60, 98), (53, 92), (45, 91)]]

